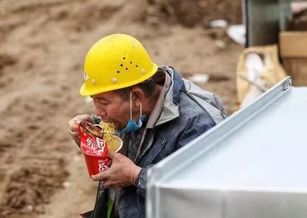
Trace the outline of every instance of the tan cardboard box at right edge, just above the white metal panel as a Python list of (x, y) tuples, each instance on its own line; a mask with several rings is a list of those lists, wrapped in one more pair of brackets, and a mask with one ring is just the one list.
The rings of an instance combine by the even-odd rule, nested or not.
[(293, 85), (307, 86), (307, 31), (286, 31), (279, 34), (281, 61)]

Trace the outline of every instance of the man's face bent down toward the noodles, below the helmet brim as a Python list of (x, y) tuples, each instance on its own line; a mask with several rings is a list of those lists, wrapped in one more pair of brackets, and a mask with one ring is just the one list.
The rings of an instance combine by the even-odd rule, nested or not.
[(95, 113), (103, 122), (114, 122), (117, 129), (126, 126), (130, 119), (130, 101), (124, 101), (116, 91), (92, 95)]

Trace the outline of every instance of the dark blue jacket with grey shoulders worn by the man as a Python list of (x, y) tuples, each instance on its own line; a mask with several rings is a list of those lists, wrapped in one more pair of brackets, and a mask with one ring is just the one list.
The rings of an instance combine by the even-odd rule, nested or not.
[[(142, 167), (137, 183), (123, 188), (118, 209), (121, 218), (145, 217), (146, 173), (149, 167), (176, 152), (227, 117), (216, 95), (181, 78), (171, 67), (162, 66), (171, 77), (171, 85), (165, 96), (161, 115), (152, 128), (147, 129), (141, 151), (135, 163)], [(99, 120), (97, 120), (99, 122)], [(123, 148), (128, 145), (128, 133), (122, 134)], [(90, 217), (102, 217), (106, 198), (102, 182), (94, 213)], [(104, 212), (103, 212), (104, 211)]]

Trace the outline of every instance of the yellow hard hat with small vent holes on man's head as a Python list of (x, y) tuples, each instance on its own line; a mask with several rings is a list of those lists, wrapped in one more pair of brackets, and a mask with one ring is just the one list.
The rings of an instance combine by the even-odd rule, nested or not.
[(149, 79), (157, 69), (137, 39), (109, 35), (97, 41), (86, 55), (80, 94), (90, 96), (133, 86)]

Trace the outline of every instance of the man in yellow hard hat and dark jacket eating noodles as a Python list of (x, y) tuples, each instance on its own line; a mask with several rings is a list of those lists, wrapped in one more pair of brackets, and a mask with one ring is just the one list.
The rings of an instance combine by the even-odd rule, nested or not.
[(110, 208), (103, 193), (111, 187), (117, 190), (113, 217), (145, 217), (148, 168), (227, 117), (215, 94), (183, 79), (175, 68), (153, 63), (143, 45), (125, 34), (106, 36), (91, 47), (80, 94), (91, 96), (95, 115), (69, 120), (76, 143), (80, 121), (113, 122), (123, 140), (120, 153), (108, 151), (111, 167), (92, 176), (100, 181), (98, 195), (84, 217), (105, 216)]

